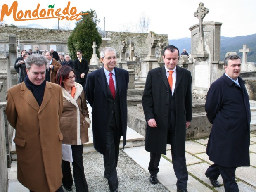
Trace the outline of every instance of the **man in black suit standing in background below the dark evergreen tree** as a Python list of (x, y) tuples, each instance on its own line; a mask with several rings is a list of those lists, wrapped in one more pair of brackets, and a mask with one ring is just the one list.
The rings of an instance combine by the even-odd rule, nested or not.
[(86, 77), (89, 71), (89, 65), (88, 61), (84, 59), (82, 55), (82, 51), (79, 50), (76, 52), (77, 59), (73, 61), (73, 69), (76, 75), (76, 82), (81, 84), (83, 86), (83, 89), (85, 90)]

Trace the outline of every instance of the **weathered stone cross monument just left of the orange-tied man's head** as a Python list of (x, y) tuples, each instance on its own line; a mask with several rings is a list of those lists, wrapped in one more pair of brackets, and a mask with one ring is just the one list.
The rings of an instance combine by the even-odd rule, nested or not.
[(158, 41), (159, 40), (156, 38), (156, 33), (150, 31), (146, 39), (148, 55), (141, 61), (140, 77), (138, 78), (139, 81), (146, 81), (147, 73), (151, 69), (159, 67), (158, 59), (155, 55), (155, 49)]

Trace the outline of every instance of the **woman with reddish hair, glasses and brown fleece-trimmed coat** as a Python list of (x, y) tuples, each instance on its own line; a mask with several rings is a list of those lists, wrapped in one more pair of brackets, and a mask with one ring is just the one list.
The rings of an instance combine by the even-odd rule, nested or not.
[[(76, 192), (88, 192), (83, 167), (83, 144), (88, 142), (90, 119), (83, 87), (75, 82), (74, 70), (62, 66), (56, 75), (56, 83), (62, 86), (63, 111), (60, 119), (60, 130), (63, 144), (71, 145), (73, 157), (73, 177)], [(62, 184), (71, 191), (73, 179), (70, 163), (62, 160)]]

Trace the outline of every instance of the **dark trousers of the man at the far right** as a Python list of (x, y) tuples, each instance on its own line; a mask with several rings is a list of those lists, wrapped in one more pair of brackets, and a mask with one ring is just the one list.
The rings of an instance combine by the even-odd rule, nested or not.
[(212, 164), (206, 170), (206, 174), (213, 180), (217, 180), (221, 175), (224, 183), (225, 192), (239, 192), (238, 185), (235, 182), (236, 167), (223, 167), (217, 164)]

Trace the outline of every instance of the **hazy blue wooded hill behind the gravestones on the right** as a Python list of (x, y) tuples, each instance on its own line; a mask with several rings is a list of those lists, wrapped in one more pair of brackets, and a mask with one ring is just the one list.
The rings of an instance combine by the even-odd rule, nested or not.
[[(239, 49), (242, 49), (244, 44), (251, 49), (251, 52), (247, 55), (247, 62), (256, 62), (256, 34), (237, 37), (221, 36), (220, 60), (225, 58), (227, 52), (237, 52), (237, 54), (242, 58), (242, 53), (239, 53)], [(180, 52), (182, 52), (184, 48), (187, 52), (190, 52), (191, 38), (170, 39), (169, 45), (175, 45), (178, 47)]]

